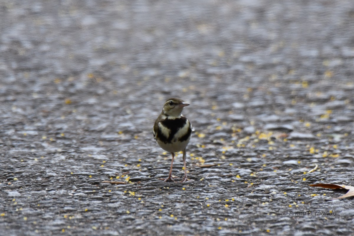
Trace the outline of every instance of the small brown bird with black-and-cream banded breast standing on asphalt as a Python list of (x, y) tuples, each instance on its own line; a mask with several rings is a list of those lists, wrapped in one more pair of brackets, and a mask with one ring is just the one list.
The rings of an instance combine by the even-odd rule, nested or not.
[(183, 151), (184, 177), (181, 182), (188, 181), (187, 168), (185, 166), (186, 147), (192, 134), (192, 125), (189, 120), (182, 116), (183, 107), (190, 104), (179, 98), (167, 99), (160, 116), (155, 120), (153, 135), (159, 146), (172, 155), (169, 177), (164, 179), (174, 181), (172, 179), (172, 166), (175, 152)]

